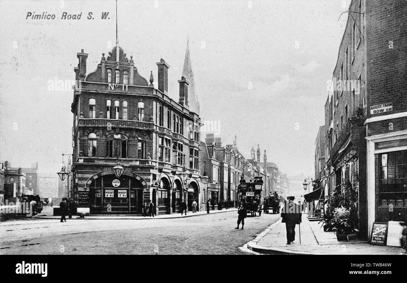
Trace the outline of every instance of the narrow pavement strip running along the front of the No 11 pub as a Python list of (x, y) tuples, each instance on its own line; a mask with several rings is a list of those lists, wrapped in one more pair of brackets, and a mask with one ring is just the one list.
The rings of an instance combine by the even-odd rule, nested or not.
[[(228, 209), (222, 209), (222, 210), (210, 210), (209, 214), (214, 214), (214, 213), (224, 213), (224, 212), (230, 212), (230, 211), (237, 211), (237, 208), (228, 208)], [(61, 219), (61, 216), (54, 216), (50, 215), (53, 212), (52, 211), (43, 211), (44, 213), (39, 213), (36, 217), (39, 219)], [(47, 214), (45, 214), (47, 213)], [(192, 211), (188, 211), (187, 214), (181, 215), (181, 213), (173, 213), (173, 214), (163, 214), (163, 215), (155, 215), (154, 217), (150, 216), (141, 216), (141, 215), (129, 215), (129, 214), (110, 214), (110, 215), (90, 215), (90, 216), (85, 216), (84, 219), (172, 219), (172, 218), (184, 218), (184, 217), (191, 217), (191, 216), (198, 216), (198, 215), (206, 215), (206, 211), (197, 211), (196, 213), (193, 213)], [(68, 217), (67, 217), (68, 219)], [(72, 218), (70, 219), (81, 219), (79, 216), (72, 215)], [(83, 220), (83, 218), (81, 219)]]

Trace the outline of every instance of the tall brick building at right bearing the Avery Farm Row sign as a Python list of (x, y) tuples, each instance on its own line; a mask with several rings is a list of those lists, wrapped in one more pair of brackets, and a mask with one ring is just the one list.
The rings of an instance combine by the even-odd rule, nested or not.
[[(374, 221), (406, 218), (407, 178), (394, 173), (407, 164), (394, 157), (407, 149), (406, 9), (401, 0), (351, 2), (325, 104), (328, 190), (346, 181), (357, 189), (366, 237)], [(389, 205), (400, 214), (386, 213)]]

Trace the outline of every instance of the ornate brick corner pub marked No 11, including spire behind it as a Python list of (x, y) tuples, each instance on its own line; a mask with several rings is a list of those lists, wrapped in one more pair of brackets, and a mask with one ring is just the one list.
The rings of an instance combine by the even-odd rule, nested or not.
[[(77, 85), (71, 111), (77, 212), (140, 214), (150, 200), (155, 214), (199, 202), (199, 104), (189, 47), (179, 82), (179, 101), (168, 97), (169, 65), (161, 59), (158, 89), (116, 46), (86, 75), (88, 54), (77, 53)], [(124, 170), (116, 177), (114, 167)], [(202, 188), (203, 189), (203, 188)]]

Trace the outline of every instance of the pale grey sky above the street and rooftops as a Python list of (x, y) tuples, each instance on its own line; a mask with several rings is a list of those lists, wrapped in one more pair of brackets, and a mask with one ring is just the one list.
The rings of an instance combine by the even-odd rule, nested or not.
[[(314, 176), (315, 139), (324, 125), (327, 81), (338, 56), (350, 0), (123, 1), (118, 40), (149, 79), (169, 65), (178, 97), (189, 37), (203, 121), (217, 121), (223, 145), (236, 137), (246, 158), (260, 145), (289, 176)], [(0, 1), (0, 162), (57, 172), (72, 154), (69, 86), (77, 53), (93, 72), (116, 41), (115, 1)], [(35, 14), (55, 15), (35, 20)], [(78, 20), (61, 19), (63, 13)], [(92, 19), (87, 19), (92, 12)], [(109, 12), (107, 19), (101, 14)], [(58, 86), (58, 85), (57, 85)], [(218, 122), (219, 121), (219, 122)], [(203, 133), (204, 136), (206, 133)]]

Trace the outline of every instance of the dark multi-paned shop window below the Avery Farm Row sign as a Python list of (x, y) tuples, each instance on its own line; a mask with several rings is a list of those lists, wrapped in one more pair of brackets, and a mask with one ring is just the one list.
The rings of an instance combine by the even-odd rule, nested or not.
[(379, 154), (381, 206), (407, 206), (407, 150)]

